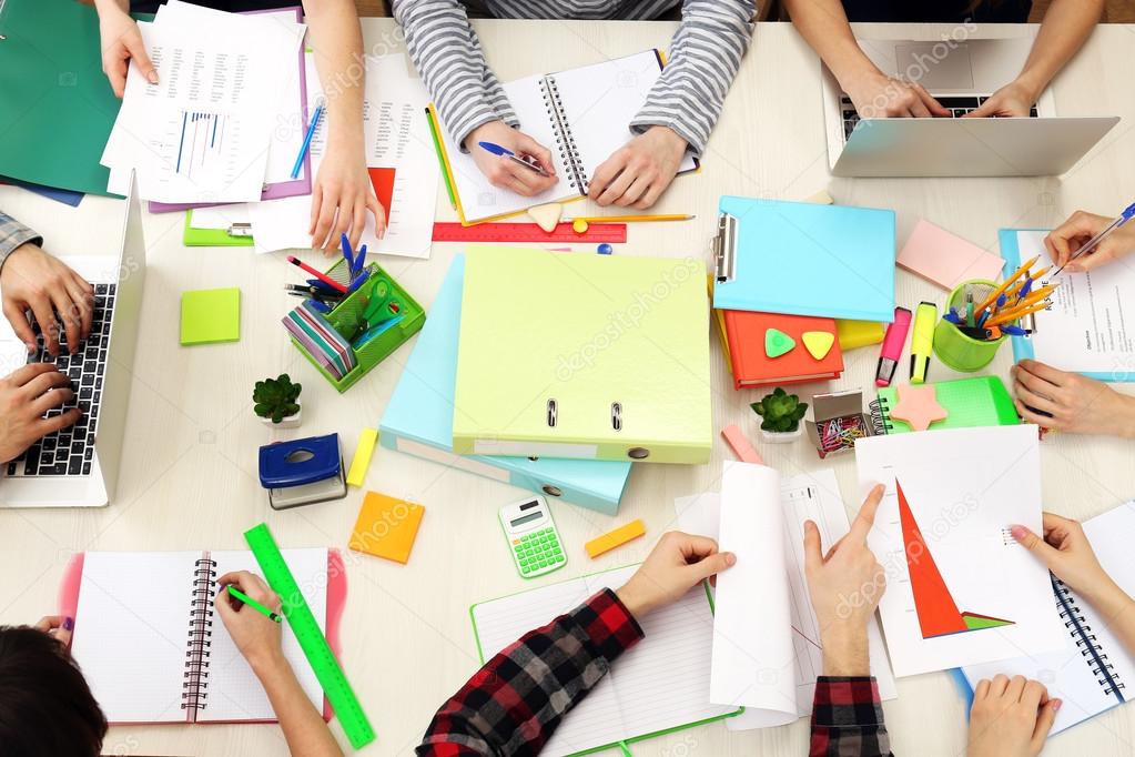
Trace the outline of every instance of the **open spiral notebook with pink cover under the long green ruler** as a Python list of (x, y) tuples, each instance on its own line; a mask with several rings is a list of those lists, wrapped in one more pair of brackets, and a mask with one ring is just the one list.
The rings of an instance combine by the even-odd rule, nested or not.
[[(326, 631), (328, 550), (283, 554)], [(260, 681), (213, 609), (218, 577), (260, 572), (251, 552), (89, 552), (81, 570), (72, 656), (107, 721), (276, 720)], [(286, 622), (283, 633), (284, 655), (308, 698), (322, 710), (322, 689)]]

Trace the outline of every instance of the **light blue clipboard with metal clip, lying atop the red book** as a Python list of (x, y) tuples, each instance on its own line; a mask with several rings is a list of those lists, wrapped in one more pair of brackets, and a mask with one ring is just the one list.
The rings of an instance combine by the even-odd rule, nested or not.
[(714, 308), (894, 320), (894, 211), (732, 196), (717, 208), (737, 235)]

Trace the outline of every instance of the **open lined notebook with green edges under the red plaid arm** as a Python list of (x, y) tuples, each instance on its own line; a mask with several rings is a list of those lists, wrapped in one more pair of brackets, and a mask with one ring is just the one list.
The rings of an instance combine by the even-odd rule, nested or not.
[[(481, 659), (603, 588), (622, 586), (637, 569), (630, 565), (473, 605)], [(701, 587), (647, 615), (641, 625), (646, 637), (568, 713), (540, 752), (544, 757), (625, 743), (738, 712), (735, 706), (709, 704), (713, 609)]]

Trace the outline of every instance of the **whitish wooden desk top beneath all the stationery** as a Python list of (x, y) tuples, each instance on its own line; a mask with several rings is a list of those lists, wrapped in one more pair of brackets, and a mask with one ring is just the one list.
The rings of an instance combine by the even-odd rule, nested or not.
[[(672, 23), (478, 22), (489, 61), (502, 78), (550, 72), (605, 57), (665, 48)], [(943, 27), (911, 26), (907, 36), (938, 39)], [(402, 49), (389, 19), (367, 19), (368, 51)], [(1020, 34), (1022, 27), (985, 27), (980, 35)], [(1043, 227), (1078, 208), (1110, 212), (1135, 195), (1135, 100), (1127, 72), (1135, 69), (1135, 27), (1101, 26), (1057, 79), (1061, 112), (1120, 115), (1123, 123), (1061, 179), (832, 179), (827, 174), (816, 57), (790, 26), (764, 24), (733, 85), (705, 168), (678, 179), (658, 212), (695, 212), (684, 224), (632, 225), (630, 243), (615, 254), (704, 255), (721, 194), (802, 199), (827, 188), (838, 202), (898, 211), (898, 236), (906, 239), (919, 217), (973, 242), (997, 249), (997, 229)], [(439, 194), (438, 219), (453, 212)], [(120, 203), (87, 197), (77, 210), (12, 187), (0, 187), (0, 208), (41, 230), (56, 254), (82, 253), (92, 241), (115, 244)], [(532, 583), (560, 581), (641, 560), (655, 539), (673, 527), (674, 497), (717, 488), (715, 445), (705, 466), (639, 465), (622, 512), (607, 518), (554, 505), (571, 550), (568, 566), (527, 582), (510, 562), (496, 508), (523, 496), (502, 483), (380, 451), (367, 488), (420, 502), (426, 516), (406, 566), (345, 549), (362, 494), (342, 501), (274, 512), (257, 478), (257, 449), (275, 438), (338, 431), (350, 456), (363, 426), (377, 426), (410, 354), (403, 347), (346, 395), (339, 396), (288, 344), (279, 318), (294, 305), (279, 285), (295, 279), (276, 255), (249, 249), (192, 249), (180, 244), (182, 215), (149, 217), (149, 274), (138, 361), (131, 398), (125, 463), (117, 501), (93, 511), (0, 511), (0, 622), (31, 623), (53, 613), (60, 577), (72, 553), (86, 549), (244, 548), (242, 532), (267, 521), (285, 546), (344, 549), (350, 598), (343, 642), (347, 673), (370, 714), (378, 741), (369, 755), (410, 755), (436, 707), (478, 667), (470, 629), (470, 604), (512, 594)], [(457, 249), (435, 245), (428, 261), (385, 258), (382, 264), (427, 308)], [(577, 246), (581, 252), (582, 246)], [(177, 339), (183, 289), (238, 285), (243, 334), (237, 344), (182, 348)], [(898, 301), (941, 301), (942, 292), (899, 271)], [(748, 403), (757, 393), (737, 393), (720, 345), (713, 338), (715, 428), (739, 423), (756, 438)], [(832, 388), (872, 386), (877, 350), (847, 354), (847, 372)], [(997, 373), (1007, 376), (1010, 351), (1002, 350)], [(303, 427), (268, 431), (252, 413), (252, 385), (288, 371), (304, 385)], [(940, 364), (932, 378), (952, 378)], [(1129, 389), (1130, 387), (1126, 387)], [(808, 389), (823, 390), (812, 386)], [(858, 506), (850, 456), (822, 462), (806, 440), (766, 445), (767, 462), (787, 473), (835, 469), (850, 512)], [(1123, 444), (1058, 435), (1042, 447), (1046, 506), (1088, 518), (1135, 494), (1135, 455)], [(585, 540), (634, 518), (648, 538), (588, 560)], [(470, 566), (476, 565), (476, 570)], [(900, 755), (959, 755), (966, 743), (961, 698), (947, 674), (899, 683), (899, 699), (886, 703), (893, 748)], [(346, 746), (339, 733), (339, 741)], [(801, 755), (808, 722), (767, 731), (731, 734), (713, 724), (647, 742), (637, 751), (701, 755)], [(1129, 754), (1135, 745), (1135, 709), (1115, 709), (1052, 740), (1046, 755)], [(285, 754), (275, 725), (133, 726), (111, 729), (106, 754), (269, 755)]]

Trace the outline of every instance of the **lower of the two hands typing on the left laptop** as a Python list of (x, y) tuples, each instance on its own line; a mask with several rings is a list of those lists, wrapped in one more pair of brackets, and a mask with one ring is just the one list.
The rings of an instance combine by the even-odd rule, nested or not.
[(51, 363), (32, 363), (0, 379), (0, 463), (19, 457), (33, 441), (73, 426), (77, 407), (53, 418), (43, 414), (75, 397), (70, 379)]

